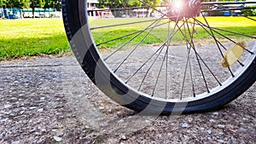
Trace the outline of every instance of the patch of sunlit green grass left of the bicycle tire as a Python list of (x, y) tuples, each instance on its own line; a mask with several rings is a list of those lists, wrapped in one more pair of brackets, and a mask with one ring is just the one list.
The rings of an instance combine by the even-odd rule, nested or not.
[(69, 49), (60, 19), (0, 20), (0, 60)]

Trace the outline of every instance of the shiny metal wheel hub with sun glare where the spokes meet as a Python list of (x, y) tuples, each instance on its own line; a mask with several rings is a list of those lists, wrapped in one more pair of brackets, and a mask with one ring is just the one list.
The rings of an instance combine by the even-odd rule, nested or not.
[(202, 0), (172, 0), (168, 17), (173, 21), (194, 17), (199, 14), (201, 3)]

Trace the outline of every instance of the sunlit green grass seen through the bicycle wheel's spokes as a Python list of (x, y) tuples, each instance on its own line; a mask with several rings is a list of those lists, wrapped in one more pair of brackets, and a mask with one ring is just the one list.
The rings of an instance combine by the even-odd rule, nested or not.
[[(254, 17), (253, 19), (255, 19)], [(150, 18), (150, 19), (155, 19), (155, 18)], [(133, 22), (137, 21), (139, 19), (95, 19), (95, 20), (90, 20), (90, 26), (95, 27), (95, 26), (106, 26), (106, 25), (113, 25), (113, 24), (118, 24), (118, 23), (125, 23), (125, 22)], [(204, 21), (203, 18), (198, 18), (198, 20)], [(247, 35), (256, 35), (256, 22), (253, 20), (248, 20), (247, 18), (238, 18), (238, 17), (207, 17), (207, 20), (211, 26), (222, 28), (225, 30), (229, 30), (231, 32), (239, 32), (239, 33), (244, 33)], [(192, 20), (191, 20), (192, 21)], [(239, 23), (239, 25), (237, 25)], [(110, 28), (104, 28), (104, 29), (98, 29), (93, 31), (93, 36), (96, 37), (95, 41), (96, 43), (102, 43), (104, 41), (108, 41), (108, 39), (112, 39), (113, 37), (119, 37), (123, 36), (125, 34), (131, 33), (131, 32), (137, 32), (140, 30), (143, 30), (145, 26), (148, 26), (150, 22), (148, 23), (143, 23), (143, 24), (135, 24), (135, 25), (130, 25), (130, 26), (115, 26), (115, 27), (110, 27)], [(181, 24), (180, 24), (181, 25)], [(174, 25), (171, 24), (171, 27)], [(167, 26), (159, 26), (157, 28), (154, 28), (152, 32), (148, 35), (148, 37), (143, 40), (143, 44), (151, 44), (151, 43), (162, 43), (166, 41), (167, 38)], [(209, 34), (201, 28), (201, 26), (195, 26), (195, 30), (198, 33), (198, 35), (194, 35), (195, 43), (213, 43), (209, 42), (212, 38), (209, 37)], [(170, 30), (171, 31), (171, 30)], [(190, 30), (192, 31), (192, 29)], [(172, 38), (172, 43), (174, 44), (184, 44), (183, 37), (181, 37), (181, 34), (177, 32), (178, 34), (174, 35)], [(188, 31), (187, 31), (188, 33)], [(235, 40), (241, 40), (241, 38), (246, 38), (246, 37), (241, 37), (234, 35), (230, 32), (222, 32), (225, 36), (229, 36), (234, 38)], [(144, 35), (146, 35), (147, 32), (143, 32), (140, 37), (137, 37), (131, 42), (131, 45), (134, 45), (136, 43), (139, 43), (140, 40), (143, 38)], [(220, 37), (218, 34), (215, 34), (216, 37)], [(99, 48), (108, 48), (108, 47), (118, 47), (122, 43), (127, 42), (131, 37), (126, 37), (122, 38), (119, 40), (116, 40), (112, 43), (106, 43), (102, 44)], [(188, 36), (189, 37), (189, 36)], [(207, 39), (207, 41), (205, 41)], [(223, 37), (220, 37), (220, 41), (224, 41)], [(183, 43), (181, 43), (183, 42)]]

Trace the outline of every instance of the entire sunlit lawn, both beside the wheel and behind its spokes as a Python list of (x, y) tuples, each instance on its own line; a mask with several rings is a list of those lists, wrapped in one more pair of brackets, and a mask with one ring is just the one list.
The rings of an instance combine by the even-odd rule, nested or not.
[[(140, 19), (90, 19), (90, 26), (106, 26), (137, 20)], [(209, 20), (211, 26), (228, 27), (231, 31), (243, 32), (248, 35), (256, 34), (256, 22), (253, 20), (232, 17), (209, 17), (207, 20)], [(239, 22), (240, 25), (236, 25), (236, 22)], [(96, 37), (96, 43), (102, 43), (113, 37), (140, 31), (147, 24), (149, 22), (131, 26), (97, 29), (92, 34)], [(200, 35), (195, 35), (195, 38), (209, 37), (207, 32), (204, 32), (201, 27), (196, 26), (195, 29), (200, 33)], [(139, 43), (145, 34), (146, 32), (143, 32), (143, 35), (135, 38), (132, 44)], [(226, 34), (230, 35), (230, 33)], [(133, 36), (122, 38), (112, 43), (102, 44), (99, 48), (118, 46), (131, 37)], [(159, 26), (148, 35), (143, 44), (160, 43), (165, 41), (166, 37), (166, 26)], [(174, 42), (179, 42), (180, 40), (181, 37), (179, 35), (173, 38)], [(69, 48), (61, 19), (0, 20), (0, 60), (14, 59), (26, 55), (59, 55), (69, 51)]]

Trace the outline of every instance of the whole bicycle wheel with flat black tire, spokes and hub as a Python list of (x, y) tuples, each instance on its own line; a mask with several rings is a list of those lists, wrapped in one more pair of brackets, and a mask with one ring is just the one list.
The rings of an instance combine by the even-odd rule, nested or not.
[[(103, 93), (137, 112), (172, 114), (215, 110), (255, 82), (256, 21), (246, 15), (255, 8), (247, 4), (93, 10), (62, 0), (62, 13), (74, 55)], [(229, 16), (211, 16), (219, 14)]]

